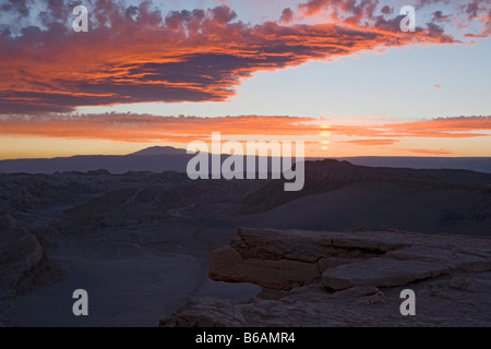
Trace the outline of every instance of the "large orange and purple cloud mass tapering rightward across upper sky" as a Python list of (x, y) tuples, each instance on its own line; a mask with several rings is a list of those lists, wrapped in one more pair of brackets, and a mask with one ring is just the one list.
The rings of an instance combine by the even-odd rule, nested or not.
[[(43, 16), (46, 29), (29, 26), (19, 36), (0, 31), (0, 111), (34, 115), (79, 106), (221, 101), (256, 71), (381, 46), (457, 43), (434, 25), (402, 33), (397, 16), (373, 15), (376, 1), (362, 1), (361, 8), (351, 3), (337, 7), (339, 16), (345, 15), (337, 22), (250, 25), (227, 5), (163, 16), (151, 1), (123, 7), (98, 0), (91, 9), (89, 32), (74, 33), (65, 25), (65, 7), (49, 1)], [(28, 15), (28, 9), (8, 10)], [(283, 23), (294, 15), (283, 14)]]

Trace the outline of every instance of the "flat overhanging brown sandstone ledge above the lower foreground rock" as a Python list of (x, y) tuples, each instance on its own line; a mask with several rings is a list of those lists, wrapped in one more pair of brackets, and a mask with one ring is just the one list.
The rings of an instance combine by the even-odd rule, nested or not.
[(289, 290), (319, 280), (333, 290), (403, 286), (452, 270), (491, 269), (491, 239), (419, 233), (241, 229), (215, 251), (209, 277)]

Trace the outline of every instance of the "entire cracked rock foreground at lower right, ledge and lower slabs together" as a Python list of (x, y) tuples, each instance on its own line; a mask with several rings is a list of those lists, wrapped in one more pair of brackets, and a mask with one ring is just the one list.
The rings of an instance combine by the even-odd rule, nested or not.
[[(208, 274), (262, 291), (192, 299), (160, 326), (491, 325), (489, 238), (241, 229)], [(416, 316), (399, 312), (404, 289), (417, 294)]]

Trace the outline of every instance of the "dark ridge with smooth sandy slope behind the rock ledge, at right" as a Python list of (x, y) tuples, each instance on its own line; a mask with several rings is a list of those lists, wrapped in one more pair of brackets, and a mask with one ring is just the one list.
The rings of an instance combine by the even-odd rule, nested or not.
[[(323, 160), (306, 166), (306, 186), (285, 193), (277, 181), (248, 195), (240, 226), (302, 230), (403, 230), (489, 236), (491, 176)], [(252, 221), (252, 226), (250, 224)]]

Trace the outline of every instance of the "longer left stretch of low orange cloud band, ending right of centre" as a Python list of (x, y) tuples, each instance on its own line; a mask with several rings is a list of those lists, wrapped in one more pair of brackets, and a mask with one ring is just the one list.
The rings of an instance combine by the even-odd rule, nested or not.
[(311, 119), (289, 117), (155, 117), (148, 115), (44, 116), (0, 119), (0, 135), (27, 135), (117, 142), (177, 142), (224, 136), (315, 136)]

